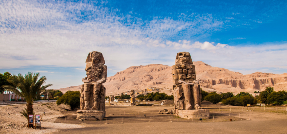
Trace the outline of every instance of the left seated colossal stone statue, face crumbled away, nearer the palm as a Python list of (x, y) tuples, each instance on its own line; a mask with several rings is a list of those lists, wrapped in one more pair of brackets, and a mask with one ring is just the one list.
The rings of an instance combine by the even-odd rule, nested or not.
[[(87, 71), (87, 77), (82, 79), (84, 84), (80, 90), (81, 110), (77, 111), (79, 115), (82, 113), (89, 113), (90, 115), (91, 113), (101, 113), (101, 115), (98, 116), (103, 116), (103, 118), (105, 117), (106, 88), (102, 83), (106, 82), (107, 66), (104, 64), (105, 60), (102, 53), (93, 51), (88, 54), (85, 69)], [(96, 116), (93, 117), (100, 120), (103, 119)], [(89, 118), (90, 120), (93, 119), (91, 117)]]

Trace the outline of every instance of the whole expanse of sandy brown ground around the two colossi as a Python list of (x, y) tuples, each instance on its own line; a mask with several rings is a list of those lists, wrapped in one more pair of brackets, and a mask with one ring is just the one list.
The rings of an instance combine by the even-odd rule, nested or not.
[[(19, 115), (19, 111), (13, 110), (13, 107), (15, 106), (0, 107), (0, 127), (11, 122), (17, 124), (17, 120), (25, 122), (24, 117)], [(42, 116), (44, 129), (33, 130), (14, 125), (14, 128), (0, 129), (0, 133), (287, 133), (287, 111), (283, 106), (265, 107), (265, 110), (251, 107), (247, 111), (246, 107), (203, 105), (203, 108), (210, 109), (210, 119), (199, 122), (197, 119), (181, 119), (172, 114), (158, 114), (159, 110), (172, 110), (172, 105), (107, 105), (106, 118), (103, 121), (85, 121), (85, 124), (76, 119), (76, 111), (65, 111), (68, 106), (50, 103), (49, 107), (34, 106), (39, 112), (48, 112)], [(7, 113), (11, 113), (9, 118), (3, 117)], [(233, 121), (229, 121), (230, 118)], [(106, 122), (109, 124), (105, 124)]]

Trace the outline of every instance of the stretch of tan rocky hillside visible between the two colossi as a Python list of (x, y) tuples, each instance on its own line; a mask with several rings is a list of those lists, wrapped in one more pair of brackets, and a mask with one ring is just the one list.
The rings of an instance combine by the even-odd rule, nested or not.
[(112, 94), (149, 87), (171, 88), (171, 67), (162, 64), (131, 66), (108, 77), (103, 85), (106, 87), (106, 93)]

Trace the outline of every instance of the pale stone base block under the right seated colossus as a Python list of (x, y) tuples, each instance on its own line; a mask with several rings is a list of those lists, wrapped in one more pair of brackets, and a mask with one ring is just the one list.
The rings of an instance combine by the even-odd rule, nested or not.
[(209, 119), (209, 109), (198, 109), (198, 110), (178, 110), (174, 109), (174, 116), (178, 116), (184, 119)]

